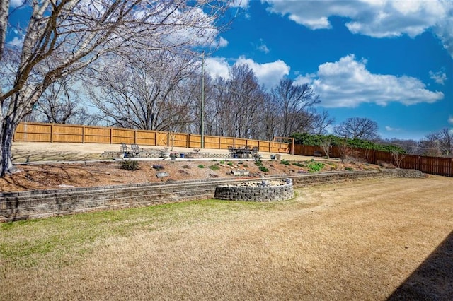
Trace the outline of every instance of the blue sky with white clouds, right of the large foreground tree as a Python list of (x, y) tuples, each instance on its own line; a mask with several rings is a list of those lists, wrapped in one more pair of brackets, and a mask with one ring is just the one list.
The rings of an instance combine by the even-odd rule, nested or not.
[(228, 77), (248, 64), (270, 89), (310, 83), (336, 124), (365, 117), (383, 138), (453, 131), (453, 1), (238, 1), (206, 59)]

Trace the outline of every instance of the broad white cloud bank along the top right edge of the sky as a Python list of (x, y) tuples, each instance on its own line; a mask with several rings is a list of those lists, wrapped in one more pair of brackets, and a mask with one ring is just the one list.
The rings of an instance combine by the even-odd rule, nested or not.
[(370, 37), (415, 37), (432, 28), (453, 57), (451, 0), (263, 1), (269, 11), (312, 30), (331, 28), (331, 16), (348, 18), (350, 32)]

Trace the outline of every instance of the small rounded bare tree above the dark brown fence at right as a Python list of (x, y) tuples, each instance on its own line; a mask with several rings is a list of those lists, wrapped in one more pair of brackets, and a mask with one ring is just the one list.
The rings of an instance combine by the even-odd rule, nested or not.
[(333, 129), (334, 133), (343, 138), (374, 140), (377, 134), (377, 122), (367, 118), (348, 118)]

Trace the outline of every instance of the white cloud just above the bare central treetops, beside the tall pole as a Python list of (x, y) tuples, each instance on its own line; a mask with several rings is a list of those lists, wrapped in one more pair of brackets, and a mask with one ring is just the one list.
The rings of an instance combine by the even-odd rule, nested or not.
[[(270, 63), (259, 64), (253, 59), (239, 57), (232, 65), (245, 64), (250, 67), (258, 78), (258, 83), (265, 85), (270, 89), (285, 76), (289, 74), (289, 66), (285, 61), (273, 61)], [(205, 60), (205, 69), (213, 78), (217, 76), (229, 79), (229, 67), (232, 66), (223, 57), (207, 58)]]

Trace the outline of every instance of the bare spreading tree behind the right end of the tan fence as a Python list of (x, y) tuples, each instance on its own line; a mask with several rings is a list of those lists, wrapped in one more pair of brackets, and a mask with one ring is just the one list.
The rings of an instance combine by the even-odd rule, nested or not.
[(316, 117), (316, 113), (309, 109), (320, 102), (311, 85), (297, 85), (284, 78), (271, 93), (280, 115), (278, 134), (289, 137), (294, 132), (309, 131)]

